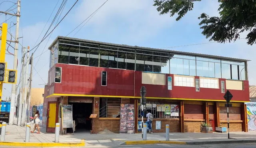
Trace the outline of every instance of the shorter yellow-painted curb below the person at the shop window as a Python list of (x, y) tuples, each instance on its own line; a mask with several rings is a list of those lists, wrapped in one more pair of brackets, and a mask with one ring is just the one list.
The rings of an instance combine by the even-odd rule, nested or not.
[(186, 145), (186, 142), (160, 141), (160, 140), (141, 140), (141, 141), (125, 141), (122, 145), (140, 145), (140, 144), (180, 144), (180, 145)]

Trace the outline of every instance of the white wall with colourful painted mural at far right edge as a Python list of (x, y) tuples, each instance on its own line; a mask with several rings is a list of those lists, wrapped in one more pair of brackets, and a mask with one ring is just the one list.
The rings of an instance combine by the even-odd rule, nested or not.
[(247, 105), (248, 130), (256, 131), (256, 102), (245, 103)]

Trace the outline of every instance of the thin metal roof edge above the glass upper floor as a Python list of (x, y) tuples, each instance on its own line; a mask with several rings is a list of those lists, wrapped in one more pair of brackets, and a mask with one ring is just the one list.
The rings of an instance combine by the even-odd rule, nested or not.
[(93, 44), (99, 44), (99, 45), (108, 45), (108, 46), (115, 46), (115, 47), (142, 49), (142, 50), (148, 50), (148, 51), (158, 51), (158, 52), (172, 53), (172, 54), (178, 54), (178, 55), (190, 55), (190, 56), (198, 56), (198, 57), (206, 57), (206, 58), (214, 58), (214, 59), (223, 59), (223, 60), (228, 60), (228, 61), (238, 61), (238, 62), (250, 61), (250, 60), (247, 60), (247, 59), (238, 59), (238, 58), (232, 58), (232, 57), (222, 57), (222, 56), (216, 56), (216, 55), (207, 55), (207, 54), (201, 54), (201, 53), (190, 53), (190, 52), (174, 51), (174, 50), (167, 50), (167, 49), (157, 49), (157, 48), (149, 48), (149, 47), (121, 45), (121, 44), (115, 44), (115, 43), (106, 43), (106, 42), (92, 41), (92, 40), (87, 40), (87, 39), (78, 39), (78, 38), (73, 38), (73, 37), (64, 37), (64, 36), (56, 37), (56, 39), (52, 42), (52, 44), (50, 45), (50, 47), (48, 49), (51, 49), (51, 47), (59, 39), (66, 39), (66, 40), (70, 40), (70, 41), (79, 41), (79, 42), (85, 42), (85, 43), (93, 43)]

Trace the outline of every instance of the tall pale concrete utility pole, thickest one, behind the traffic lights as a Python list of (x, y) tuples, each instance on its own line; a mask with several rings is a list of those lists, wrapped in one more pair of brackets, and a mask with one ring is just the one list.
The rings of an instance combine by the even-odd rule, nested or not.
[[(17, 59), (18, 59), (18, 37), (19, 37), (19, 24), (20, 24), (20, 0), (17, 3), (17, 20), (16, 20), (16, 34), (15, 34), (15, 46), (14, 46), (14, 64), (13, 69), (17, 69)], [(16, 84), (12, 84), (12, 95), (11, 95), (11, 107), (10, 107), (10, 117), (9, 124), (12, 125), (14, 121), (14, 104), (16, 97)]]

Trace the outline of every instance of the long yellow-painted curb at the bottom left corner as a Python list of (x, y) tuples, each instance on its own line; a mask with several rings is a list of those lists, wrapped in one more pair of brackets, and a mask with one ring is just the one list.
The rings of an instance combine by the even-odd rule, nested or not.
[(58, 143), (33, 143), (33, 142), (0, 142), (0, 146), (21, 146), (21, 147), (78, 147), (85, 146), (84, 140), (80, 143), (68, 143), (68, 142), (58, 142)]

